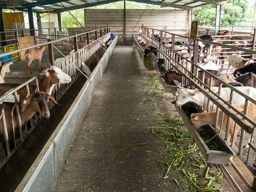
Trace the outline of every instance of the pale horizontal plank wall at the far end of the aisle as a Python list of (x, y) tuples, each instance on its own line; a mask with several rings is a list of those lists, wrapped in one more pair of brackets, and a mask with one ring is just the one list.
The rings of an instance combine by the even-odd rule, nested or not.
[(85, 27), (110, 26), (124, 41), (124, 11), (126, 11), (126, 40), (131, 41), (132, 34), (138, 34), (143, 24), (149, 28), (167, 30), (188, 36), (191, 29), (189, 10), (155, 10), (155, 9), (85, 9)]

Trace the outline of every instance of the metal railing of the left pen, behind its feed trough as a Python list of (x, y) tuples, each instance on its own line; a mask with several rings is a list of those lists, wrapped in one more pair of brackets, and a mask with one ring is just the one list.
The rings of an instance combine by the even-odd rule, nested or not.
[[(97, 36), (95, 34), (98, 34), (99, 31), (106, 31), (106, 33), (99, 33), (102, 34), (102, 36)], [(7, 53), (1, 53), (0, 57), (3, 56), (7, 56), (9, 54), (17, 54), (20, 53), (21, 51), (26, 51), (27, 49), (32, 49), (32, 48), (36, 48), (36, 47), (41, 47), (43, 45), (48, 47), (48, 55), (49, 55), (49, 60), (50, 63), (52, 64), (52, 67), (57, 66), (58, 68), (61, 68), (61, 70), (63, 72), (65, 72), (66, 74), (68, 74), (71, 78), (72, 78), (72, 82), (74, 82), (77, 78), (79, 78), (79, 76), (84, 75), (88, 80), (90, 80), (89, 76), (86, 76), (83, 71), (82, 71), (82, 62), (85, 63), (85, 65), (90, 65), (90, 63), (92, 62), (93, 58), (93, 54), (99, 54), (99, 52), (103, 51), (105, 52), (107, 47), (102, 47), (100, 45), (99, 41), (104, 41), (104, 42), (108, 42), (108, 40), (110, 40), (110, 33), (115, 33), (111, 30), (111, 27), (107, 27), (107, 28), (103, 28), (103, 29), (99, 29), (99, 30), (94, 30), (94, 31), (88, 31), (88, 32), (84, 32), (84, 33), (80, 33), (80, 34), (76, 34), (74, 36), (70, 36), (70, 37), (65, 37), (65, 38), (61, 38), (61, 39), (57, 39), (57, 40), (48, 40), (47, 42), (41, 43), (41, 44), (37, 44), (37, 45), (33, 45), (30, 47), (26, 47), (26, 48), (22, 48), (22, 49), (17, 49), (17, 50), (13, 50)], [(96, 36), (96, 40), (94, 40), (93, 42), (90, 42), (87, 46), (83, 47), (82, 49), (77, 49), (77, 36), (81, 36), (81, 35), (85, 35), (88, 38), (90, 38), (91, 35), (93, 35), (94, 37)], [(74, 40), (74, 50), (72, 51), (72, 53), (70, 54), (63, 54), (63, 51), (59, 50), (59, 48), (62, 46), (62, 42), (67, 40), (67, 39), (73, 39)], [(58, 63), (55, 63), (54, 60), (56, 60), (56, 54), (54, 53), (58, 53), (58, 56), (61, 55), (61, 57), (63, 57), (63, 60), (60, 60)], [(45, 56), (46, 53), (43, 55)], [(65, 62), (65, 64), (63, 63)], [(93, 69), (91, 69), (91, 71), (93, 72)], [(11, 96), (11, 95), (18, 95), (18, 90), (21, 89), (22, 87), (26, 87), (26, 94), (29, 95), (30, 91), (29, 91), (29, 85), (34, 85), (36, 87), (36, 91), (39, 91), (39, 84), (40, 84), (40, 78), (42, 78), (43, 76), (43, 72), (32, 77), (29, 78), (29, 80), (27, 80), (25, 83), (21, 83), (20, 85), (18, 85), (17, 87), (15, 87), (14, 89), (11, 89), (9, 92), (7, 92), (6, 94), (0, 96), (0, 104), (3, 103), (3, 100), (6, 99), (7, 97)], [(54, 86), (53, 91), (52, 91), (52, 96), (54, 97), (54, 99), (56, 101), (58, 101), (61, 96), (63, 96), (63, 94), (67, 91), (67, 89), (72, 85), (71, 83), (67, 83), (67, 84), (57, 84)], [(16, 104), (18, 104), (18, 98), (16, 98)], [(16, 105), (16, 107), (18, 107), (18, 105)], [(53, 107), (52, 103), (50, 104), (50, 108)], [(20, 112), (18, 111), (18, 116), (20, 116)], [(0, 112), (1, 116), (0, 119), (2, 120), (2, 124), (3, 127), (6, 127), (6, 121), (5, 121), (5, 115), (4, 115), (4, 109), (2, 109), (2, 111)], [(20, 118), (19, 118), (20, 119)], [(34, 119), (34, 120), (33, 120)], [(30, 125), (31, 127), (29, 128), (29, 130), (31, 131), (32, 129), (34, 129), (34, 127), (37, 125), (37, 123), (41, 120), (40, 116), (36, 116), (35, 118), (31, 118), (30, 120)], [(21, 125), (21, 122), (20, 122)], [(8, 127), (7, 127), (8, 128)], [(23, 132), (23, 128), (22, 126), (19, 127), (20, 129), (20, 133)], [(23, 132), (23, 134), (27, 134), (27, 127), (25, 129), (25, 132)], [(7, 136), (7, 141), (8, 141), (8, 133), (7, 130), (4, 130), (4, 134)], [(13, 133), (15, 134), (15, 133)], [(23, 140), (23, 134), (21, 134), (21, 138), (19, 138), (18, 140), (16, 140), (15, 142), (19, 142), (20, 140)], [(7, 143), (7, 145), (9, 145)], [(0, 154), (0, 159), (3, 160), (3, 163), (8, 161), (9, 159), (9, 154), (12, 154), (13, 151), (15, 151), (15, 149), (13, 151), (8, 150), (10, 149), (10, 147), (7, 147), (7, 157), (6, 154)]]

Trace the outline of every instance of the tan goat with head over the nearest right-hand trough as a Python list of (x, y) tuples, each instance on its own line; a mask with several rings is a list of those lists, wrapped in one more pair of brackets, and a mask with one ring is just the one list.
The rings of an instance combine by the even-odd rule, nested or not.
[[(238, 111), (240, 112), (244, 111), (244, 105), (233, 105), (233, 106), (236, 107), (236, 109), (238, 109)], [(220, 113), (218, 116), (218, 127), (221, 127), (222, 125), (222, 130), (226, 132), (227, 115), (224, 114), (224, 118), (222, 120), (222, 113), (223, 112), (220, 110)], [(250, 119), (253, 119), (255, 114), (256, 114), (256, 105), (253, 103), (249, 103), (247, 117)], [(215, 119), (216, 119), (216, 112), (209, 112), (209, 113), (203, 112), (203, 113), (191, 114), (191, 117), (190, 117), (190, 121), (196, 130), (203, 125), (214, 125)], [(234, 140), (231, 143), (231, 145), (233, 146), (236, 141), (237, 133), (241, 132), (241, 127), (238, 126), (235, 129), (235, 124), (236, 122), (231, 118), (228, 138), (230, 140), (230, 138), (233, 138), (233, 135), (234, 135)]]

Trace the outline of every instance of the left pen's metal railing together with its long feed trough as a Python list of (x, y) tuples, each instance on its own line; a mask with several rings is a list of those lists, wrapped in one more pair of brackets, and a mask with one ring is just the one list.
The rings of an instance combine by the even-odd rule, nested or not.
[[(99, 34), (99, 36), (97, 34)], [(83, 47), (83, 49), (77, 49), (78, 36), (85, 36), (88, 39), (93, 37), (94, 41)], [(65, 42), (67, 39), (74, 40), (75, 51), (69, 55), (66, 55), (67, 51), (63, 52), (63, 50), (59, 50), (59, 48), (63, 47), (62, 42)], [(50, 104), (50, 112), (52, 114), (56, 112), (56, 116), (49, 117), (49, 120), (52, 121), (50, 125), (45, 123), (40, 115), (38, 116), (35, 114), (30, 120), (30, 125), (27, 125), (25, 130), (22, 130), (22, 127), (20, 127), (20, 138), (15, 138), (17, 147), (12, 151), (9, 147), (8, 134), (7, 132), (4, 132), (7, 137), (7, 155), (2, 150), (2, 153), (0, 154), (0, 183), (2, 186), (4, 186), (4, 183), (8, 183), (9, 189), (4, 188), (2, 190), (14, 191), (17, 187), (17, 190), (23, 191), (35, 191), (38, 188), (44, 188), (47, 191), (52, 190), (54, 178), (56, 179), (56, 176), (65, 161), (65, 156), (70, 149), (70, 145), (73, 142), (77, 127), (79, 127), (84, 114), (90, 106), (94, 91), (101, 81), (101, 76), (108, 65), (108, 60), (112, 55), (117, 39), (118, 37), (115, 32), (112, 31), (111, 27), (106, 27), (80, 33), (79, 35), (70, 36), (68, 38), (49, 40), (49, 42), (39, 44), (33, 42), (35, 45), (31, 47), (1, 54), (1, 56), (17, 54), (18, 52), (26, 51), (29, 48), (46, 45), (47, 51), (44, 54), (49, 56), (47, 58), (49, 58), (53, 67), (58, 66), (72, 78), (71, 83), (56, 84), (54, 86), (54, 98), (58, 103), (62, 104), (61, 106), (63, 107), (63, 110), (60, 112), (57, 105), (54, 105), (54, 103)], [(108, 44), (103, 47), (100, 45), (100, 41)], [(68, 53), (69, 52), (70, 51), (68, 51)], [(100, 60), (96, 60), (93, 57), (94, 54), (97, 54)], [(63, 60), (54, 63), (56, 57), (62, 57), (65, 63), (63, 63)], [(82, 63), (90, 68), (90, 71), (92, 72), (90, 75), (83, 72)], [(30, 85), (35, 85), (37, 89), (39, 89), (38, 84), (40, 83), (40, 78), (42, 78), (43, 74), (45, 74), (45, 71), (38, 73), (32, 78), (23, 78), (23, 81), (25, 80), (23, 83), (18, 80), (21, 84), (1, 96), (0, 103), (3, 103), (4, 99), (12, 95), (14, 95), (16, 103), (18, 103), (17, 93), (22, 87), (26, 87), (27, 94), (31, 91), (29, 90)], [(23, 77), (26, 76), (25, 74), (23, 75)], [(30, 75), (31, 74), (27, 77)], [(16, 105), (16, 107), (19, 107), (19, 105)], [(4, 109), (2, 109), (2, 114), (1, 119), (4, 123)], [(47, 129), (45, 129), (45, 126)], [(33, 131), (35, 128), (36, 131)], [(40, 131), (43, 132), (40, 133)], [(66, 132), (68, 132), (68, 134)], [(44, 135), (44, 138), (41, 137), (39, 139), (40, 141), (38, 140), (38, 134)], [(52, 140), (51, 138), (54, 139)], [(33, 147), (35, 148), (33, 149)], [(38, 147), (40, 150), (38, 150)], [(21, 160), (18, 164), (15, 163), (17, 159)], [(27, 165), (34, 167), (35, 169), (31, 168), (30, 170), (24, 170), (16, 167)], [(13, 169), (9, 170), (9, 167), (13, 167)], [(13, 178), (13, 174), (16, 175), (15, 178)], [(52, 180), (50, 181), (49, 178), (52, 178)]]

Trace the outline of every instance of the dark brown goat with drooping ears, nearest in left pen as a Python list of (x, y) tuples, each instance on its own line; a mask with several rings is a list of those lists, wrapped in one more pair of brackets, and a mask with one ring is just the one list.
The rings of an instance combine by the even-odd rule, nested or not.
[[(22, 102), (19, 105), (20, 105), (21, 124), (23, 128), (25, 123), (36, 112), (39, 112), (41, 116), (44, 118), (49, 118), (50, 116), (49, 106), (48, 106), (49, 100), (52, 100), (54, 103), (58, 105), (56, 100), (51, 95), (46, 94), (45, 92), (32, 93), (27, 98), (22, 100)], [(1, 105), (3, 105), (3, 108), (4, 108), (5, 120), (7, 124), (7, 134), (9, 136), (10, 149), (12, 150), (15, 142), (14, 139), (20, 136), (18, 116), (17, 116), (16, 110), (14, 110), (13, 118), (11, 117), (11, 111), (14, 106), (13, 104), (9, 103), (9, 104), (1, 104)], [(13, 129), (14, 129), (14, 133), (13, 133)], [(15, 135), (15, 138), (13, 134)], [(2, 142), (5, 152), (7, 152), (6, 146), (8, 141), (5, 140), (2, 123), (0, 123), (0, 141)]]

